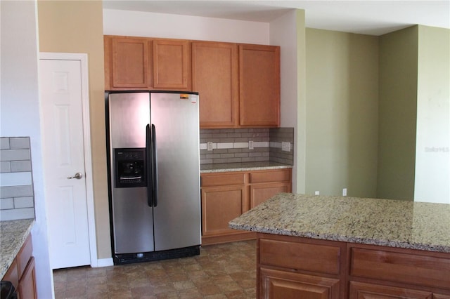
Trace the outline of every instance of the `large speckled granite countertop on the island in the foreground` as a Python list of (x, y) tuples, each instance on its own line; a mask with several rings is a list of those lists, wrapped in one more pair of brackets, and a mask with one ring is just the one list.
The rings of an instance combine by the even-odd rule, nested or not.
[(280, 193), (236, 230), (450, 253), (450, 204)]

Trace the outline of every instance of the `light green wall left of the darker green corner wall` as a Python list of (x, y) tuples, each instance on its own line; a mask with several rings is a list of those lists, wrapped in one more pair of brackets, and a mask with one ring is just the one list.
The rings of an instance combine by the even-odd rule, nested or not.
[(306, 34), (306, 192), (375, 197), (378, 37)]

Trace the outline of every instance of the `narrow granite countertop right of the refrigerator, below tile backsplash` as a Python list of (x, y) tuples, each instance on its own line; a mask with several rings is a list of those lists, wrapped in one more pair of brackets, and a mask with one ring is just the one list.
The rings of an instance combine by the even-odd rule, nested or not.
[(226, 171), (261, 171), (266, 169), (281, 169), (281, 168), (293, 168), (293, 166), (269, 161), (200, 164), (200, 173), (220, 173)]

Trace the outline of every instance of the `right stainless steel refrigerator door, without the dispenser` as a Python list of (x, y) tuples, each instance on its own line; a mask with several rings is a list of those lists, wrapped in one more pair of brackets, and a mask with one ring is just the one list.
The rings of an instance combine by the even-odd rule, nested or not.
[(200, 245), (198, 95), (150, 93), (158, 155), (155, 251)]

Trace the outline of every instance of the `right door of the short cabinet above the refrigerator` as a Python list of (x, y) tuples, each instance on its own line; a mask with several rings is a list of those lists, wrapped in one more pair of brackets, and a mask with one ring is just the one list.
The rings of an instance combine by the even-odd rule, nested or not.
[(153, 40), (153, 88), (187, 91), (191, 88), (189, 42)]

